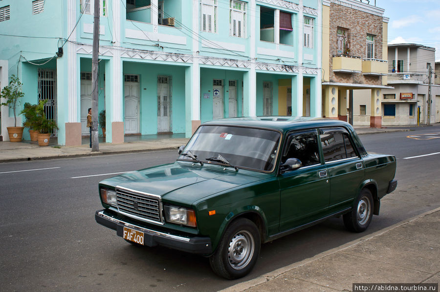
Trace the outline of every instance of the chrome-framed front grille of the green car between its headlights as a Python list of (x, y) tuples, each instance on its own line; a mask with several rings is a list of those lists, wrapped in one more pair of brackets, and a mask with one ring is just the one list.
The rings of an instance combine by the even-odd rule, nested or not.
[(120, 212), (146, 221), (162, 223), (160, 197), (123, 188), (116, 188), (116, 195)]

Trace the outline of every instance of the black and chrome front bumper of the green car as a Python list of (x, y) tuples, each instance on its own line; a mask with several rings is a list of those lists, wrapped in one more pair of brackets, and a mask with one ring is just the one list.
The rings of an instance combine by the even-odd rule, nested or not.
[(144, 233), (144, 245), (154, 247), (157, 245), (165, 246), (175, 250), (182, 250), (198, 254), (212, 253), (211, 239), (209, 237), (181, 236), (150, 228), (139, 226), (138, 223), (130, 219), (120, 219), (107, 210), (98, 210), (95, 213), (97, 223), (116, 230), (116, 234), (122, 237), (124, 226)]

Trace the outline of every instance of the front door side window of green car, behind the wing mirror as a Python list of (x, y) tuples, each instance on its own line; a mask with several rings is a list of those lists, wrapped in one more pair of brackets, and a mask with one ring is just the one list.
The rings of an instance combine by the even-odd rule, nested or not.
[(303, 166), (320, 164), (316, 132), (293, 134), (287, 140), (282, 163), (288, 158), (301, 160)]

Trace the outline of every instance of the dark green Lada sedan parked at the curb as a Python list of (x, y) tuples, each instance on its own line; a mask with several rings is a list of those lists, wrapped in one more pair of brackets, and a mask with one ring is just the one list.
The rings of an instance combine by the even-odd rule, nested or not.
[(262, 243), (327, 218), (364, 231), (397, 186), (395, 156), (367, 153), (336, 120), (216, 120), (178, 151), (175, 163), (100, 182), (96, 222), (134, 245), (206, 256), (228, 279), (252, 270)]

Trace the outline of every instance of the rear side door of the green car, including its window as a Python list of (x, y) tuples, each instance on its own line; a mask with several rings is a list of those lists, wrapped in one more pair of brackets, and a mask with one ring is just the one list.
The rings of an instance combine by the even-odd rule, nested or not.
[(330, 176), (329, 206), (336, 209), (351, 207), (359, 185), (365, 179), (364, 163), (346, 129), (321, 129), (319, 137)]

